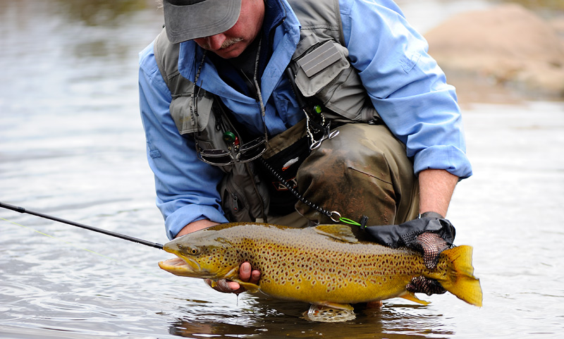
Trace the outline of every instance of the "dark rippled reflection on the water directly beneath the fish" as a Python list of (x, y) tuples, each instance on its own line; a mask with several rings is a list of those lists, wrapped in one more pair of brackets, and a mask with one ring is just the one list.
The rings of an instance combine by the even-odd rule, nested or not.
[[(345, 323), (307, 321), (309, 304), (271, 300), (245, 295), (245, 307), (236, 312), (219, 311), (214, 305), (183, 308), (169, 326), (169, 333), (186, 338), (208, 335), (254, 338), (450, 338), (455, 332), (443, 314), (426, 312), (426, 307), (385, 303), (382, 308), (355, 306), (356, 319)], [(197, 313), (195, 313), (197, 312)], [(223, 314), (221, 314), (223, 313)]]

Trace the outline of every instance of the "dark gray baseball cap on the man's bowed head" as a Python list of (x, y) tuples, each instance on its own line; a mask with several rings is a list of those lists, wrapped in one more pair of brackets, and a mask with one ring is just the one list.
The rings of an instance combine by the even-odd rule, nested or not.
[(164, 0), (164, 25), (173, 44), (209, 37), (233, 27), (241, 0)]

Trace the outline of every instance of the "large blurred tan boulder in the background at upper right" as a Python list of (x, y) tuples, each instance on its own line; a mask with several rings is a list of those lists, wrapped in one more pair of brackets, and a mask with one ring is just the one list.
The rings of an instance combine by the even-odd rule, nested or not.
[(517, 4), (461, 13), (426, 35), (449, 81), (486, 78), (527, 94), (564, 99), (562, 22)]

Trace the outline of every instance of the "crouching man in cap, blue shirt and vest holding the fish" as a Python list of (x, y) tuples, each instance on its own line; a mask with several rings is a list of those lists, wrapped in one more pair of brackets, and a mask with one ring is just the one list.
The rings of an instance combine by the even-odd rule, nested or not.
[(140, 108), (169, 238), (367, 216), (376, 240), (434, 265), (472, 169), (454, 89), (393, 1), (165, 0), (164, 18)]

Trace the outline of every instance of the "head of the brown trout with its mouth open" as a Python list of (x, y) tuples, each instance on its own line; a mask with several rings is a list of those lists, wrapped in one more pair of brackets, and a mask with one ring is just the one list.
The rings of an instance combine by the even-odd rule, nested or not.
[(199, 230), (167, 242), (163, 249), (176, 258), (159, 262), (159, 267), (176, 276), (223, 279), (236, 276), (240, 262), (230, 241), (213, 231)]

